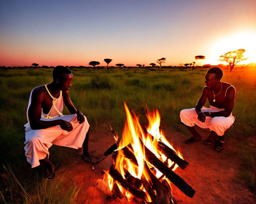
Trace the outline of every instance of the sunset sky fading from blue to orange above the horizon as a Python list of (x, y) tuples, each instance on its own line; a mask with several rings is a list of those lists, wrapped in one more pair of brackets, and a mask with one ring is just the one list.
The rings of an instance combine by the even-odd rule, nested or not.
[(256, 1), (1, 0), (0, 66), (217, 65), (246, 49), (256, 62)]

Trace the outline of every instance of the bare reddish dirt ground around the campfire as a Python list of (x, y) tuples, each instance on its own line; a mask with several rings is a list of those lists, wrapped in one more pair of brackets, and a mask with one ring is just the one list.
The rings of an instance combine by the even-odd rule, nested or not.
[[(177, 203), (255, 203), (255, 197), (249, 192), (245, 182), (238, 179), (241, 160), (230, 140), (225, 142), (222, 152), (217, 152), (214, 145), (207, 146), (203, 143), (210, 133), (208, 130), (196, 128), (203, 139), (197, 143), (185, 144), (183, 141), (187, 137), (181, 133), (165, 130), (164, 127), (162, 129), (174, 148), (180, 146), (184, 159), (189, 162), (185, 170), (177, 168), (175, 172), (196, 191), (194, 197), (189, 198), (176, 186), (172, 186)], [(109, 123), (102, 124), (98, 130), (90, 133), (91, 156), (101, 157), (113, 143)], [(106, 194), (93, 186), (101, 176), (101, 171), (107, 170), (112, 164), (111, 156), (98, 164), (83, 162), (80, 156), (81, 151), (73, 156), (73, 164), (59, 168), (55, 176), (55, 180), (63, 180), (62, 187), (65, 189), (73, 185), (80, 188), (76, 204), (129, 203), (125, 198), (110, 201)]]

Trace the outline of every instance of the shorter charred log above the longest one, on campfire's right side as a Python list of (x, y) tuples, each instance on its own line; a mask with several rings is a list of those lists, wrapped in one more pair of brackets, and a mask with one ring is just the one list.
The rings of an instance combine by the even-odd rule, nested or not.
[(184, 170), (189, 164), (187, 161), (180, 158), (174, 150), (169, 148), (166, 144), (164, 144), (161, 141), (158, 142), (157, 149), (161, 151), (167, 158), (176, 163), (182, 170)]

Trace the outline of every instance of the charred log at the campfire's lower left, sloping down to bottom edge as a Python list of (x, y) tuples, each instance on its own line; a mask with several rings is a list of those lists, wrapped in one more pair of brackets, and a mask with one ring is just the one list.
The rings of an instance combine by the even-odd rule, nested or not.
[(122, 175), (111, 165), (109, 170), (109, 175), (116, 181), (120, 183), (120, 185), (128, 190), (133, 196), (140, 198), (142, 200), (145, 200), (146, 202), (149, 202), (147, 195), (144, 191), (137, 189), (132, 184), (128, 183), (126, 180), (123, 179)]

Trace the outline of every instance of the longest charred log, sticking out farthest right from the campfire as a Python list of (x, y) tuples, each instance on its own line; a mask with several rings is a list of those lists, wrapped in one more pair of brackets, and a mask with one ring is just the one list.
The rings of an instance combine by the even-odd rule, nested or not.
[(146, 146), (145, 146), (146, 159), (159, 171), (161, 171), (176, 187), (178, 187), (185, 195), (192, 198), (195, 190), (188, 185), (180, 176), (174, 171), (169, 169), (162, 161), (160, 161)]

